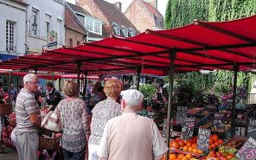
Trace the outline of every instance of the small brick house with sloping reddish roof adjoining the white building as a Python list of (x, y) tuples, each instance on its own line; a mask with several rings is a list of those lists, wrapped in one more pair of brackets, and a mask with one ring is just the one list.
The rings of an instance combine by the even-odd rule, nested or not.
[(65, 4), (65, 45), (76, 47), (86, 41), (87, 30), (70, 8), (69, 3)]

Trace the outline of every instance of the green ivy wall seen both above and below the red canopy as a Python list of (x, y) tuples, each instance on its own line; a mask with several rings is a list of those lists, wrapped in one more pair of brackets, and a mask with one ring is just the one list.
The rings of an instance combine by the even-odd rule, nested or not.
[[(253, 16), (255, 13), (256, 0), (169, 0), (165, 13), (165, 27), (166, 29), (182, 27), (192, 23), (194, 19), (207, 22), (229, 21)], [(176, 80), (183, 83), (184, 80), (194, 79), (196, 92), (199, 89), (209, 89), (214, 82), (232, 85), (233, 77), (232, 71), (218, 71), (208, 75), (178, 74)], [(246, 86), (249, 91), (254, 80), (253, 74), (242, 72), (238, 74), (238, 86)]]

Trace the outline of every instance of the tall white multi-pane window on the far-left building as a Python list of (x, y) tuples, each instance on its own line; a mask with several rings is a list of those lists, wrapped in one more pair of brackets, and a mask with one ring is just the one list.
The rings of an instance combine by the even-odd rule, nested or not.
[(16, 22), (6, 21), (6, 50), (16, 52), (15, 46)]

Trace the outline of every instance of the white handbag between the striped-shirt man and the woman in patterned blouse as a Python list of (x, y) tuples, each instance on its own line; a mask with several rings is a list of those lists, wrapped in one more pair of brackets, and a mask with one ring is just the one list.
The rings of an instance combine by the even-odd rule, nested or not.
[(49, 131), (60, 132), (61, 127), (61, 117), (53, 111), (48, 112), (48, 114), (42, 119), (42, 128), (48, 129)]

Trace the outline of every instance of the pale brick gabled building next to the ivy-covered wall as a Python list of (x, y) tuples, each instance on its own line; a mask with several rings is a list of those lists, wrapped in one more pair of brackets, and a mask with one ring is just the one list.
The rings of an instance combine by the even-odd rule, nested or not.
[[(157, 6), (157, 1), (151, 1), (151, 3)], [(139, 32), (144, 32), (146, 29), (164, 29), (164, 19), (161, 13), (143, 0), (133, 0), (125, 10), (125, 16)]]

